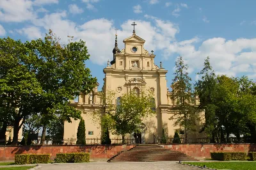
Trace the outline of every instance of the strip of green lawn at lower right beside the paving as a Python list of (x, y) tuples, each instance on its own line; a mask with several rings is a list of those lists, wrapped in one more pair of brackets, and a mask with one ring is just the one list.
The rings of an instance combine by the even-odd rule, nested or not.
[(206, 166), (214, 169), (252, 170), (256, 162), (184, 162), (195, 166)]

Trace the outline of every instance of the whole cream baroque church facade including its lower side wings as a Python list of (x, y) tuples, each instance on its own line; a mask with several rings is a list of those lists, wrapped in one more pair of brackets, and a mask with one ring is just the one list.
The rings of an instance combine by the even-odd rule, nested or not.
[[(132, 36), (123, 42), (125, 47), (119, 50), (116, 38), (113, 61), (110, 63), (108, 61), (108, 66), (103, 70), (105, 74), (104, 91), (106, 93), (108, 90), (115, 91), (115, 98), (118, 98), (132, 90), (140, 94), (143, 89), (150, 89), (154, 94), (156, 114), (143, 120), (139, 141), (140, 143), (153, 143), (154, 137), (162, 136), (163, 128), (166, 137), (173, 137), (175, 130), (179, 127), (174, 127), (173, 120), (169, 120), (170, 110), (175, 102), (171, 99), (172, 92), (166, 86), (168, 71), (163, 68), (161, 62), (159, 66), (155, 64), (154, 51), (148, 52), (144, 48), (145, 40), (136, 35), (134, 30)], [(99, 84), (97, 85), (99, 86)], [(88, 95), (81, 93), (78, 102), (71, 101), (70, 103), (81, 111), (88, 139), (101, 136), (100, 125), (93, 121), (93, 112), (99, 111), (102, 107), (98, 86)], [(72, 123), (65, 122), (64, 139), (76, 138), (78, 125), (79, 120), (72, 120)], [(116, 137), (116, 135), (110, 134), (111, 139)], [(127, 134), (125, 137), (134, 137), (134, 134)]]

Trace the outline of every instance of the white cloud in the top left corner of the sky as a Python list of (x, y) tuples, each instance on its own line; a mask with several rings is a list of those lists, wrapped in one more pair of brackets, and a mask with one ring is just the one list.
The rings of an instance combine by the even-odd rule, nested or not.
[(23, 22), (35, 17), (33, 2), (26, 0), (1, 0), (0, 20), (4, 22)]

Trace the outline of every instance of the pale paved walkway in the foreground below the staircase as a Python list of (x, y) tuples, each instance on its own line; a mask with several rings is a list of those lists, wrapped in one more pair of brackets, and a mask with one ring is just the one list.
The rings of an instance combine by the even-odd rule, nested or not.
[(92, 169), (92, 170), (193, 170), (198, 167), (184, 166), (176, 162), (90, 162), (83, 164), (40, 164), (38, 170), (71, 170), (71, 169)]

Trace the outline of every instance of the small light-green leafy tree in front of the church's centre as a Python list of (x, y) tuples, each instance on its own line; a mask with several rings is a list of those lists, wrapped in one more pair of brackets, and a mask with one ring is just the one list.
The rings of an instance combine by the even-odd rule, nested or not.
[(152, 93), (141, 91), (138, 95), (135, 91), (125, 93), (120, 97), (119, 104), (116, 105), (116, 111), (112, 112), (114, 133), (122, 135), (122, 141), (125, 143), (125, 134), (140, 132), (140, 125), (143, 118), (154, 114), (152, 103)]

